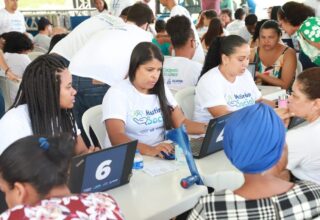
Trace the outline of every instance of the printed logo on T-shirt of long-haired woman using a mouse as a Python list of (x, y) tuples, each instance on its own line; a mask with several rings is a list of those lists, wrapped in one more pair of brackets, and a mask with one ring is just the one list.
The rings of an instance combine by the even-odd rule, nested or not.
[(135, 110), (133, 112), (133, 121), (138, 125), (153, 125), (163, 123), (161, 109), (154, 108), (153, 110)]

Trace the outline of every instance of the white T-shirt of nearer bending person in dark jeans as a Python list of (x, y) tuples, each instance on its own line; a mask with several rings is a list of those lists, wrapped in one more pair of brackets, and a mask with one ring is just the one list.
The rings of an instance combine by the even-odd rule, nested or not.
[(152, 35), (134, 24), (106, 28), (96, 33), (70, 62), (73, 75), (89, 77), (108, 85), (128, 74), (133, 48), (140, 42), (151, 42)]

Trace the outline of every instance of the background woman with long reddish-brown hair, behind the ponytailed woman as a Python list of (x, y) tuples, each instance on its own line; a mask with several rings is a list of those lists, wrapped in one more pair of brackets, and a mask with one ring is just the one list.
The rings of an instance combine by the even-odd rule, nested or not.
[(213, 18), (210, 21), (208, 31), (201, 38), (203, 50), (207, 53), (212, 40), (215, 37), (223, 36), (222, 22), (219, 18)]

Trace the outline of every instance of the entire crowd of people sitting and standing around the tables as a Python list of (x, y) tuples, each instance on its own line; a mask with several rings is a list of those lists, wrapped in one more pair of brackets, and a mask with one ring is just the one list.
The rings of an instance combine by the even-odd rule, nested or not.
[[(319, 217), (320, 19), (312, 7), (289, 1), (259, 21), (230, 2), (194, 22), (176, 0), (160, 0), (170, 11), (166, 20), (155, 19), (148, 1), (111, 5), (111, 12), (96, 0), (96, 13), (70, 33), (53, 36), (52, 23), (41, 18), (30, 39), (17, 1), (5, 0), (0, 69), (12, 105), (0, 88), (0, 189), (9, 207), (0, 218), (50, 218), (53, 206), (61, 217), (125, 217), (106, 192), (71, 195), (67, 186), (71, 158), (104, 145), (89, 146), (81, 123), (96, 105), (112, 145), (138, 140), (141, 154), (159, 158), (174, 153), (167, 130), (184, 124), (201, 135), (212, 118), (232, 113), (224, 152), (244, 183), (201, 197), (188, 219)], [(43, 55), (31, 60), (30, 51)], [(288, 107), (263, 99), (259, 85), (290, 93)], [(187, 118), (174, 94), (191, 87)], [(306, 123), (286, 132), (293, 116)]]

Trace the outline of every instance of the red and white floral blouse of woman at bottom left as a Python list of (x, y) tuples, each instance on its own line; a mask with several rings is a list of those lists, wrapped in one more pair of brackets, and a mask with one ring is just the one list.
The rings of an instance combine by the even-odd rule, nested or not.
[(120, 220), (117, 203), (107, 193), (89, 193), (42, 200), (35, 206), (18, 205), (0, 215), (0, 220)]

